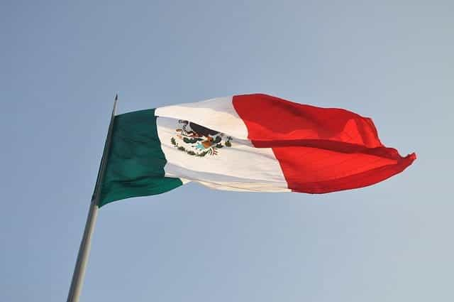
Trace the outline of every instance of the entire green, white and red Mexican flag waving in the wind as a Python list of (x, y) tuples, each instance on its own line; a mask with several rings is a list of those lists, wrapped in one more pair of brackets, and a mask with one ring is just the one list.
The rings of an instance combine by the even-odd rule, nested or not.
[(370, 118), (261, 94), (119, 114), (106, 156), (99, 206), (191, 181), (329, 193), (378, 183), (416, 159), (384, 146)]

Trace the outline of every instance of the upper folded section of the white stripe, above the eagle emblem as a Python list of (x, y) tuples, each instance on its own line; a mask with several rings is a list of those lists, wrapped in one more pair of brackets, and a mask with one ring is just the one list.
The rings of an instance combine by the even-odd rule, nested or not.
[(157, 117), (184, 119), (238, 139), (248, 139), (248, 129), (233, 108), (232, 97), (157, 108)]

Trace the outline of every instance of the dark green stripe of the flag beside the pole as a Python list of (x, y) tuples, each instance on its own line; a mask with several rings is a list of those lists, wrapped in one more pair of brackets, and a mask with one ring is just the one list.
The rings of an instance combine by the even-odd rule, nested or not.
[(179, 178), (164, 177), (165, 163), (155, 109), (116, 116), (99, 207), (124, 198), (165, 193), (182, 185)]

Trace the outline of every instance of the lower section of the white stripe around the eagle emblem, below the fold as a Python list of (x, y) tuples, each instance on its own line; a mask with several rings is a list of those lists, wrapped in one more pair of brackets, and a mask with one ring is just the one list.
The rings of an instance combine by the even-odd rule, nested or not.
[[(202, 109), (203, 114), (206, 108)], [(166, 114), (170, 114), (168, 112)], [(187, 112), (186, 112), (187, 113)], [(162, 112), (161, 112), (162, 114)], [(177, 119), (187, 119), (188, 114)], [(222, 114), (221, 114), (222, 115)], [(197, 124), (207, 126), (203, 116), (191, 115)], [(223, 146), (217, 149), (216, 155), (199, 157), (181, 151), (171, 143), (174, 138), (179, 146), (192, 150), (190, 144), (185, 144), (178, 138), (176, 131), (181, 128), (177, 119), (166, 117), (157, 118), (157, 134), (161, 141), (162, 151), (167, 159), (165, 175), (184, 178), (218, 190), (246, 190), (262, 192), (289, 192), (279, 162), (272, 149), (255, 148), (247, 139), (238, 139), (233, 136), (231, 147)], [(191, 122), (191, 119), (189, 119)], [(211, 119), (211, 124), (213, 119)], [(221, 124), (221, 123), (217, 123)], [(238, 124), (237, 124), (238, 125)], [(211, 128), (211, 126), (209, 126)], [(223, 131), (228, 131), (228, 124), (223, 125)], [(215, 129), (214, 127), (212, 129)], [(219, 131), (219, 129), (216, 129)], [(238, 133), (238, 128), (237, 128)], [(225, 143), (226, 136), (223, 136)]]

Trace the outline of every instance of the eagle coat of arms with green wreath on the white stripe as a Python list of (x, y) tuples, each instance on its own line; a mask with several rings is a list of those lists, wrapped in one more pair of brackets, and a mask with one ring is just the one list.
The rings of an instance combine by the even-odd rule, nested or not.
[(172, 137), (170, 142), (179, 151), (186, 152), (191, 156), (211, 156), (218, 155), (218, 149), (232, 146), (231, 136), (214, 131), (199, 124), (180, 119), (176, 137)]

